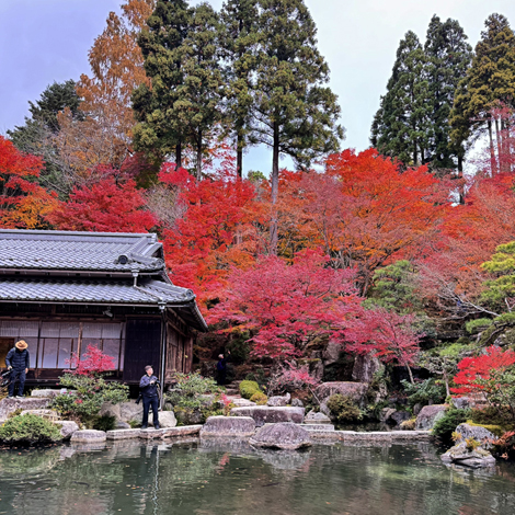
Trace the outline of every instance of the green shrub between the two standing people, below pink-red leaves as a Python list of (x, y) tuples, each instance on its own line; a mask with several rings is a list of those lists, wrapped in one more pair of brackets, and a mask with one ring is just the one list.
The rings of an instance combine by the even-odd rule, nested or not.
[(65, 417), (78, 420), (92, 428), (104, 402), (119, 404), (128, 400), (128, 387), (119, 382), (107, 382), (103, 377), (65, 374), (60, 386), (73, 391), (60, 393), (50, 402), (50, 408)]

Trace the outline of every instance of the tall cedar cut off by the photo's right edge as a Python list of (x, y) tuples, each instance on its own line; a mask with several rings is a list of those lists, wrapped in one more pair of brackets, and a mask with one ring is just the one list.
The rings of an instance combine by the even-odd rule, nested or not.
[[(503, 151), (500, 121), (491, 111), (499, 103), (515, 105), (515, 35), (502, 14), (491, 14), (476, 46), (476, 56), (467, 76), (460, 81), (451, 114), (453, 139), (460, 145), (468, 137), (488, 130), (492, 173), (499, 170), (495, 159), (493, 127), (497, 152)], [(501, 124), (502, 125), (502, 124)], [(501, 170), (503, 171), (503, 170)]]

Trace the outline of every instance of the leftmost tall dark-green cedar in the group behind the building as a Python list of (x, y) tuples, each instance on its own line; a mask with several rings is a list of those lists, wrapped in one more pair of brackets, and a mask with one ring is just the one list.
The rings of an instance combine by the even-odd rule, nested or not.
[(185, 128), (179, 119), (184, 88), (184, 42), (192, 24), (193, 9), (185, 0), (160, 0), (148, 19), (148, 31), (138, 38), (145, 71), (151, 87), (139, 85), (133, 94), (133, 108), (139, 122), (134, 128), (138, 150), (164, 159), (175, 153), (182, 167)]

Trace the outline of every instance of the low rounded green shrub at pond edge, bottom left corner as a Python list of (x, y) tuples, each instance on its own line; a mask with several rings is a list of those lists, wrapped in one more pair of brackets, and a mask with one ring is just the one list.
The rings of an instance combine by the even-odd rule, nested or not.
[(42, 416), (26, 413), (9, 419), (0, 427), (0, 439), (7, 444), (46, 444), (62, 439), (59, 428)]

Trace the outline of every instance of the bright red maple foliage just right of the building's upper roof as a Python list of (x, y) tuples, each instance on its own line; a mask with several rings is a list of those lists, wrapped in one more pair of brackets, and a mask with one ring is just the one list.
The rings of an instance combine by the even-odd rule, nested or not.
[(193, 286), (204, 304), (219, 295), (230, 266), (244, 268), (254, 261), (254, 224), (260, 218), (255, 188), (230, 162), (203, 181), (164, 164), (159, 179), (176, 188), (184, 210), (174, 227), (163, 231), (171, 278), (179, 286)]

